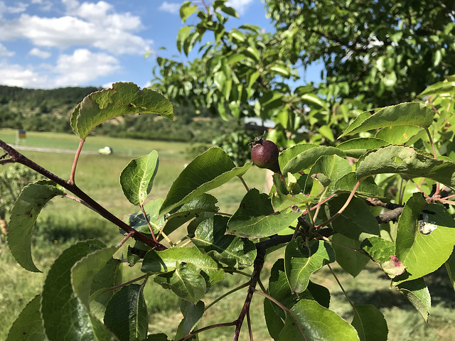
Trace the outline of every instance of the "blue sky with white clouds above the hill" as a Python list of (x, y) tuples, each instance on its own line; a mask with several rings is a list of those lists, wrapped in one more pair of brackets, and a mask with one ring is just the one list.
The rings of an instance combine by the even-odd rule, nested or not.
[[(0, 1), (0, 85), (50, 89), (110, 87), (134, 82), (145, 87), (156, 55), (186, 60), (176, 49), (183, 26), (178, 0)], [(273, 31), (260, 0), (230, 0), (240, 19)], [(186, 24), (197, 22), (188, 18)], [(159, 50), (164, 47), (166, 50)], [(144, 54), (151, 52), (149, 58)], [(189, 59), (196, 57), (196, 52)], [(319, 80), (319, 72), (306, 76)]]

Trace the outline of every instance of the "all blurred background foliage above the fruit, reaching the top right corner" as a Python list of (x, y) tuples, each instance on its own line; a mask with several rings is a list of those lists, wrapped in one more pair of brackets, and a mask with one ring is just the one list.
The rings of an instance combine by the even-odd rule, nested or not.
[[(177, 105), (190, 102), (225, 119), (273, 119), (269, 139), (282, 148), (300, 141), (333, 146), (363, 110), (412, 101), (455, 73), (455, 4), (267, 0), (265, 6), (275, 33), (251, 25), (227, 31), (238, 15), (225, 1), (186, 1), (182, 21), (197, 21), (180, 29), (177, 47), (186, 55), (199, 47), (199, 57), (158, 58), (154, 87)], [(325, 82), (304, 84), (298, 70), (320, 60)]]

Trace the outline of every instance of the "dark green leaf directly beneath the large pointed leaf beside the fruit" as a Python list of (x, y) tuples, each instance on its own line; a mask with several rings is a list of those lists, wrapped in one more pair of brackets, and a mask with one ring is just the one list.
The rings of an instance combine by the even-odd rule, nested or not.
[(215, 206), (217, 202), (216, 197), (207, 193), (195, 197), (193, 200), (179, 207), (176, 212), (172, 212), (166, 217), (163, 232), (170, 234), (178, 227), (181, 227), (181, 225), (198, 217), (202, 212), (218, 212), (219, 208)]

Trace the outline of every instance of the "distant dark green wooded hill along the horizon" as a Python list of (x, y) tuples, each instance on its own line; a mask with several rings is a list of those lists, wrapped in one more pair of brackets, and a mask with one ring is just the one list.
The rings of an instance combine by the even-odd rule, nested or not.
[[(97, 87), (65, 87), (52, 90), (23, 89), (0, 85), (0, 127), (28, 131), (72, 132), (70, 114)], [(196, 114), (187, 107), (174, 107), (176, 121), (143, 114), (120, 117), (100, 125), (97, 134), (165, 141), (210, 143), (235, 129), (208, 112)]]

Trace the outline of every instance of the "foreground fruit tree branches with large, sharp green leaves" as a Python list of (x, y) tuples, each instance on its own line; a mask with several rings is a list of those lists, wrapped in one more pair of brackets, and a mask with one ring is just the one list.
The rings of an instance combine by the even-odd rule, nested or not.
[[(427, 321), (431, 298), (424, 276), (445, 265), (455, 285), (450, 206), (455, 205), (450, 195), (455, 188), (455, 76), (420, 96), (427, 97), (425, 103), (363, 112), (336, 147), (302, 143), (282, 151), (270, 193), (250, 189), (243, 180), (251, 163), (235, 166), (214, 147), (188, 164), (164, 200), (146, 202), (159, 167), (159, 155), (151, 151), (120, 174), (124, 195), (138, 207), (123, 220), (76, 185), (77, 161), (90, 131), (107, 119), (139, 113), (173, 119), (171, 102), (163, 95), (120, 82), (77, 104), (70, 121), (80, 146), (68, 180), (0, 140), (5, 151), (0, 165), (20, 163), (49, 179), (23, 188), (11, 210), (8, 244), (24, 269), (39, 272), (31, 254), (33, 224), (55, 196), (80, 202), (124, 232), (116, 245), (89, 240), (63, 251), (7, 340), (33, 335), (33, 340), (60, 341), (65, 335), (65, 340), (183, 341), (226, 326), (235, 328), (233, 340), (239, 340), (245, 318), (250, 335), (255, 328), (250, 323), (255, 295), (266, 298), (255, 308), (264, 309), (274, 340), (387, 340), (387, 323), (373, 305), (355, 305), (343, 290), (353, 308), (352, 322), (329, 309), (328, 288), (311, 276), (325, 266), (331, 269), (334, 261), (352, 276), (373, 261)], [(352, 138), (360, 132), (365, 137)], [(242, 180), (245, 196), (235, 212), (218, 212), (216, 198), (207, 192), (235, 177)], [(393, 195), (390, 186), (396, 188)], [(376, 215), (372, 207), (387, 212)], [(176, 229), (186, 231), (188, 242), (169, 237)], [(276, 247), (282, 247), (282, 258), (263, 283), (267, 252)], [(127, 256), (114, 256), (119, 249)], [(119, 271), (124, 262), (140, 266), (144, 275), (131, 279), (134, 269)], [(244, 283), (208, 305), (205, 293), (232, 273), (245, 276)], [(148, 335), (144, 286), (162, 286), (181, 298), (183, 320), (176, 335), (155, 329)], [(205, 310), (242, 289), (245, 301), (235, 320), (198, 325)]]

